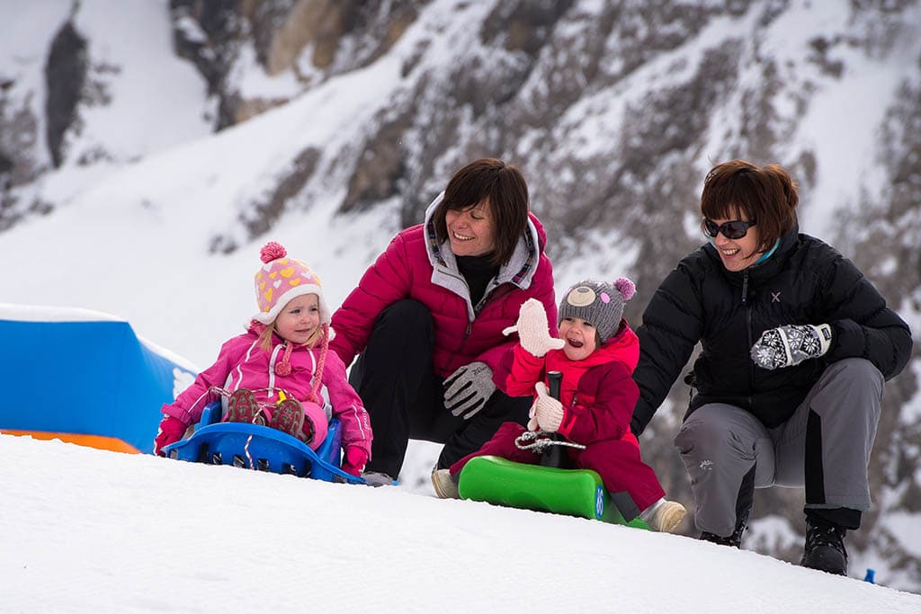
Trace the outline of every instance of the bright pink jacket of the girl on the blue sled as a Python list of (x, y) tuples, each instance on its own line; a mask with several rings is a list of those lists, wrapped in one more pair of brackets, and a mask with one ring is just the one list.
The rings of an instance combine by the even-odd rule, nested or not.
[[(182, 423), (197, 423), (204, 406), (218, 399), (217, 395), (209, 392), (212, 386), (230, 392), (248, 388), (256, 393), (257, 399), (273, 403), (278, 400), (279, 390), (285, 390), (289, 398), (306, 400), (320, 348), (296, 346), (289, 359), (290, 375), (278, 376), (274, 367), (285, 353), (285, 342), (273, 336), (273, 347), (266, 352), (259, 343), (259, 326), (251, 325), (246, 334), (225, 342), (215, 364), (198, 374), (192, 386), (186, 388), (174, 402), (164, 405), (161, 411)], [(343, 447), (358, 446), (370, 456), (372, 435), (367, 411), (345, 378), (345, 365), (334, 352), (326, 355), (321, 381), (329, 394), (332, 416), (342, 422)], [(322, 404), (323, 401), (320, 402)]]

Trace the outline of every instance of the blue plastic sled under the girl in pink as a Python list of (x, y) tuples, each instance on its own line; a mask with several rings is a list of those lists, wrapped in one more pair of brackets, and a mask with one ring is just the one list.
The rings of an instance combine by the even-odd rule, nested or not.
[[(297, 437), (268, 426), (222, 423), (221, 411), (220, 401), (205, 406), (192, 436), (163, 448), (167, 457), (209, 465), (252, 465), (252, 469), (314, 480), (365, 483), (340, 468), (342, 423), (335, 418), (322, 446), (314, 452)], [(248, 439), (249, 458), (244, 451)]]

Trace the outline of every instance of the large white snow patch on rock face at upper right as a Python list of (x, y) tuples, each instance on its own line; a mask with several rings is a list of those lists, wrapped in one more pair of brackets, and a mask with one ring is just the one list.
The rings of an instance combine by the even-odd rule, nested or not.
[[(796, 140), (788, 146), (789, 159), (810, 153), (817, 164), (816, 184), (803, 195), (800, 227), (804, 232), (834, 241), (834, 220), (842, 210), (856, 210), (863, 204), (855, 200), (861, 190), (870, 199), (878, 196), (887, 180), (886, 160), (878, 159), (875, 143), (889, 105), (910, 71), (904, 70), (921, 53), (921, 27), (904, 31), (891, 41), (892, 52), (886, 58), (854, 44), (842, 44), (841, 32), (847, 28), (848, 12), (839, 3), (813, 3), (799, 0), (782, 17), (771, 24), (772, 36), (762, 52), (776, 60), (781, 78), (799, 83), (804, 89), (815, 88), (809, 108), (799, 121)], [(910, 9), (914, 16), (906, 24), (921, 24), (921, 9)], [(823, 40), (829, 44), (825, 53), (829, 63), (840, 62), (843, 73), (835, 78), (822, 75), (815, 65), (801, 62), (803, 57), (819, 56), (810, 52), (810, 43)], [(787, 117), (801, 111), (788, 110)]]

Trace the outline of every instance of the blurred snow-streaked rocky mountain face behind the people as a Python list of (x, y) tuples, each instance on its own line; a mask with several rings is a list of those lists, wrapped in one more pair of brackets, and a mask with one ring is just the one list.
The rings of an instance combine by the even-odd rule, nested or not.
[[(169, 18), (173, 52), (202, 76), (216, 132), (338, 77), (398, 65), (360, 140), (279, 160), (274, 189), (245, 215), (251, 238), (305, 206), (297, 195), (321, 159), (346, 177), (341, 213), (398, 199), (409, 226), (453, 169), (499, 156), (529, 180), (558, 279), (631, 276), (637, 295), (626, 315), (639, 323), (659, 282), (701, 243), (695, 206), (706, 170), (734, 157), (778, 162), (799, 181), (804, 230), (855, 261), (917, 337), (918, 4), (170, 0)], [(92, 87), (105, 67), (87, 55), (74, 19), (50, 40), (43, 107), (11, 96), (15, 80), (0, 74), (0, 230), (62, 206), (29, 186), (71, 159), (81, 110), (105, 104)], [(212, 241), (219, 252), (238, 247), (232, 237)], [(901, 532), (921, 517), (919, 365), (915, 357), (886, 388), (870, 467), (876, 506), (848, 539), (915, 590), (921, 552)], [(642, 444), (670, 495), (690, 502), (671, 445), (687, 398), (677, 383)], [(802, 504), (799, 491), (758, 492), (747, 546), (799, 561)], [(767, 522), (778, 517), (786, 530)]]

